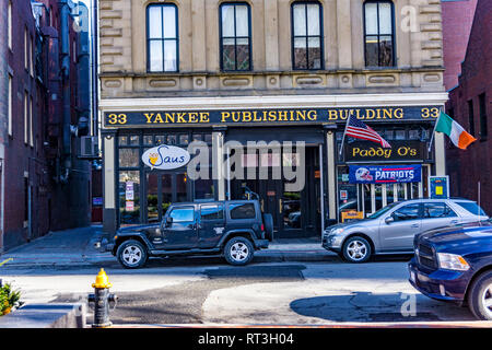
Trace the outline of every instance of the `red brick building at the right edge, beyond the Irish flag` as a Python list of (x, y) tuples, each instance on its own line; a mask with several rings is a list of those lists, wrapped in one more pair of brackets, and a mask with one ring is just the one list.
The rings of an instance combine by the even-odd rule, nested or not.
[(477, 138), (466, 151), (449, 145), (447, 168), (452, 195), (478, 200), (492, 214), (492, 2), (479, 0), (461, 65), (459, 85), (450, 91), (447, 113)]

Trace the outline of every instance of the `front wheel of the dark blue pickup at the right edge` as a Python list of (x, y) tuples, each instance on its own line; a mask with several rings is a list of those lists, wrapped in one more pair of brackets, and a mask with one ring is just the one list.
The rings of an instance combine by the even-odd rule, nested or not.
[(478, 319), (492, 320), (492, 271), (473, 281), (468, 293), (468, 307)]

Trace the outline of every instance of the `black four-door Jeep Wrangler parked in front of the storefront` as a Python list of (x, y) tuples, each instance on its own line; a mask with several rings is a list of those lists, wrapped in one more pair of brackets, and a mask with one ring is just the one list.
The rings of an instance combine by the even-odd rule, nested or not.
[(171, 255), (222, 254), (229, 264), (246, 265), (272, 240), (272, 217), (258, 200), (183, 202), (172, 205), (161, 224), (118, 230), (103, 249), (130, 269)]

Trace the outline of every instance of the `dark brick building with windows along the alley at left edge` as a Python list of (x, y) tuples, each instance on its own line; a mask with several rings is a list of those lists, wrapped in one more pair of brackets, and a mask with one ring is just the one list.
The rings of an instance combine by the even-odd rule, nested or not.
[(89, 223), (90, 166), (78, 160), (71, 132), (78, 79), (85, 79), (77, 72), (74, 8), (70, 0), (1, 2), (0, 252)]

